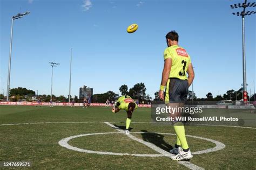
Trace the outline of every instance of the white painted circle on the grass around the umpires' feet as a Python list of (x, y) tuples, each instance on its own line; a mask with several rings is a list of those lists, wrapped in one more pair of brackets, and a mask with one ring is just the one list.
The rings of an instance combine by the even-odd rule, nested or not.
[[(153, 132), (130, 132), (130, 133), (149, 133), (149, 134), (154, 134)], [(157, 132), (156, 132), (157, 133)], [(131, 153), (117, 153), (117, 152), (104, 152), (104, 151), (92, 151), (92, 150), (85, 150), (83, 148), (78, 148), (75, 146), (71, 146), (68, 144), (69, 140), (79, 138), (79, 137), (84, 137), (84, 136), (93, 136), (93, 135), (100, 135), (100, 134), (124, 134), (122, 132), (104, 132), (104, 133), (86, 133), (86, 134), (79, 134), (76, 136), (70, 136), (68, 138), (64, 138), (58, 142), (58, 144), (62, 147), (68, 148), (69, 150), (73, 151), (78, 151), (78, 152), (85, 152), (85, 153), (95, 153), (95, 154), (103, 154), (103, 155), (133, 155), (136, 157), (165, 157), (163, 154), (131, 154)], [(173, 133), (157, 133), (157, 134), (166, 134), (166, 135), (176, 135)], [(214, 143), (216, 146), (213, 148), (208, 148), (206, 150), (202, 151), (197, 151), (197, 152), (192, 152), (192, 154), (203, 154), (203, 153), (209, 153), (209, 152), (215, 152), (218, 150), (222, 150), (225, 145), (221, 143), (220, 141), (217, 140), (212, 140), (208, 138), (203, 138), (203, 137), (197, 137), (197, 136), (191, 136), (191, 135), (186, 135), (187, 137), (192, 137), (192, 138), (197, 138), (197, 139), (202, 139), (202, 140), (207, 140), (211, 141)]]

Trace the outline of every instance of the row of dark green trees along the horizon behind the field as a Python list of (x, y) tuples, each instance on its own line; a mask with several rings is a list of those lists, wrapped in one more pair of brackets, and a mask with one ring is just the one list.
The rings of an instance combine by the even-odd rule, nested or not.
[[(129, 95), (131, 96), (133, 99), (138, 100), (139, 103), (148, 103), (152, 101), (152, 97), (150, 97), (149, 94), (146, 94), (146, 86), (144, 83), (137, 83), (134, 84), (134, 86), (132, 88), (128, 88), (128, 86), (126, 84), (123, 84), (122, 86), (120, 86), (119, 88), (120, 91), (120, 95), (117, 93), (114, 93), (113, 91), (107, 91), (106, 93), (103, 94), (94, 94), (92, 96), (92, 102), (95, 103), (105, 103), (106, 100), (109, 101), (116, 101), (117, 98), (119, 96), (123, 96), (123, 95)], [(36, 96), (35, 91), (30, 90), (30, 89), (26, 89), (26, 88), (22, 88), (22, 87), (18, 87), (18, 88), (13, 88), (10, 90), (10, 101), (32, 101), (32, 97)], [(242, 88), (240, 88), (239, 90), (235, 91), (235, 90), (227, 90), (226, 94), (223, 95), (217, 95), (215, 97), (213, 97), (212, 93), (209, 92), (205, 95), (206, 97), (204, 98), (198, 98), (196, 96), (196, 93), (192, 92), (192, 91), (188, 91), (188, 95), (187, 95), (187, 100), (191, 101), (192, 99), (194, 101), (221, 101), (221, 100), (241, 100), (242, 99)], [(254, 96), (255, 94), (250, 96), (250, 101), (254, 101)], [(41, 101), (44, 102), (50, 102), (50, 95), (38, 95), (37, 97), (41, 98)], [(248, 96), (249, 97), (249, 96)], [(3, 100), (4, 96), (3, 94), (0, 94), (0, 100)], [(83, 102), (83, 98), (79, 98), (77, 96), (70, 96), (71, 101), (74, 100), (75, 102)], [(154, 100), (160, 100), (159, 96), (158, 96), (158, 91), (156, 91), (156, 93), (154, 93)], [(60, 96), (55, 96), (52, 95), (52, 101), (53, 102), (68, 102), (69, 101), (69, 95), (68, 97), (65, 97), (64, 95), (60, 95)]]

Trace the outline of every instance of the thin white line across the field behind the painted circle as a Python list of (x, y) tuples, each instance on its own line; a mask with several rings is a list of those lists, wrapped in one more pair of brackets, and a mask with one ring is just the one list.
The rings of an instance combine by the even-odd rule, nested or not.
[[(0, 126), (9, 126), (9, 125), (28, 125), (28, 124), (62, 124), (62, 123), (104, 123), (104, 122), (32, 122), (32, 123), (13, 123), (13, 124), (0, 124)], [(122, 123), (122, 122), (109, 122), (109, 123)], [(132, 123), (147, 123), (147, 124), (156, 124), (154, 122), (132, 122)], [(231, 128), (245, 128), (245, 129), (256, 129), (252, 127), (246, 126), (228, 126), (228, 125), (207, 125), (207, 124), (200, 124), (203, 126), (224, 126), (224, 127), (231, 127)]]

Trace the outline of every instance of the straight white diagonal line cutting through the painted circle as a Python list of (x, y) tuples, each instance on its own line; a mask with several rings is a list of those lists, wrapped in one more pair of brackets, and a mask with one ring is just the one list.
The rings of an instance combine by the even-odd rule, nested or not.
[[(109, 123), (109, 122), (105, 122), (105, 124), (111, 126), (112, 128), (118, 130), (119, 132), (123, 132), (123, 133), (124, 133), (123, 130), (121, 130), (121, 129), (119, 129), (119, 128), (117, 129), (116, 126), (112, 125), (112, 124)], [(131, 138), (131, 139), (133, 139), (133, 140), (136, 140), (136, 141), (138, 141), (139, 143), (142, 143), (142, 144), (146, 145), (147, 147), (150, 147), (152, 150), (157, 151), (158, 153), (165, 155), (165, 157), (171, 158), (171, 157), (174, 155), (174, 154), (171, 154), (170, 152), (167, 152), (167, 151), (161, 149), (160, 147), (157, 147), (157, 146), (154, 145), (154, 144), (151, 144), (151, 143), (149, 143), (149, 142), (147, 142), (147, 141), (144, 141), (144, 140), (142, 140), (142, 139), (139, 139), (139, 138), (137, 138), (137, 137), (134, 137), (134, 136), (132, 136), (131, 134), (128, 134), (127, 137), (129, 137), (129, 138)], [(204, 169), (204, 168), (201, 168), (201, 167), (199, 167), (199, 166), (197, 166), (197, 165), (194, 165), (194, 164), (192, 164), (191, 162), (188, 162), (188, 161), (178, 161), (178, 163), (181, 164), (181, 165), (184, 165), (184, 166), (186, 166), (187, 168), (190, 168), (190, 169)]]

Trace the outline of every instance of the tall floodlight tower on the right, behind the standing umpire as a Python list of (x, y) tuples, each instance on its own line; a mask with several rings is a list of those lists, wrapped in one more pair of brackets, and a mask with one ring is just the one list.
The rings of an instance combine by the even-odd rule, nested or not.
[(242, 17), (242, 89), (243, 89), (242, 98), (244, 99), (245, 104), (248, 101), (247, 88), (246, 88), (246, 62), (245, 62), (245, 16), (247, 15), (250, 16), (256, 13), (256, 11), (245, 11), (245, 9), (247, 7), (255, 7), (255, 6), (256, 6), (255, 2), (247, 3), (247, 0), (245, 0), (245, 2), (242, 4), (238, 3), (238, 4), (230, 5), (232, 9), (243, 8), (241, 12), (237, 12), (237, 13), (233, 12), (233, 15)]

